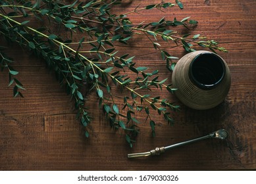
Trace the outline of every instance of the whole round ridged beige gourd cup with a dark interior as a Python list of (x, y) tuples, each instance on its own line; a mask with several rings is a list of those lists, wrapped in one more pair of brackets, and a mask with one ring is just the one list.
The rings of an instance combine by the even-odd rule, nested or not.
[(224, 101), (231, 85), (228, 64), (209, 51), (194, 51), (178, 60), (172, 72), (176, 97), (193, 109), (203, 110)]

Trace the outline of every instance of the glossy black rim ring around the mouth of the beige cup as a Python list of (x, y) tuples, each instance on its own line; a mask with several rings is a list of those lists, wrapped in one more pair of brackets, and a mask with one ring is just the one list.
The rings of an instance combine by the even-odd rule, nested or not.
[[(195, 64), (197, 58), (201, 57), (202, 55), (212, 55), (213, 57), (215, 57), (218, 62), (220, 62), (221, 66), (222, 66), (222, 75), (220, 76), (220, 79), (218, 81), (216, 81), (215, 83), (211, 83), (211, 84), (205, 84), (205, 83), (201, 83), (200, 81), (198, 81), (195, 76), (193, 76), (193, 64)], [(217, 87), (217, 85), (223, 80), (225, 74), (226, 74), (226, 67), (224, 64), (224, 60), (222, 58), (220, 58), (218, 55), (216, 55), (215, 53), (200, 53), (199, 55), (195, 56), (192, 60), (192, 62), (190, 63), (190, 69), (189, 69), (189, 74), (190, 74), (190, 78), (192, 78), (193, 83), (195, 83), (195, 85), (197, 85), (197, 87), (201, 88), (201, 89), (213, 89), (215, 87)]]

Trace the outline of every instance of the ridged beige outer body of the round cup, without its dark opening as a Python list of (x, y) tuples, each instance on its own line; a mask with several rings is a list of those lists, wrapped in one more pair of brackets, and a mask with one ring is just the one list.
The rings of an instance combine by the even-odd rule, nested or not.
[[(218, 57), (219, 62), (224, 67), (221, 70), (223, 72), (221, 78), (211, 85), (208, 84), (208, 87), (207, 85), (206, 87), (199, 85), (196, 78), (193, 78), (191, 75), (192, 62), (195, 61), (198, 55), (203, 54), (211, 54), (214, 57)], [(226, 62), (215, 53), (194, 51), (180, 58), (177, 62), (172, 72), (172, 85), (174, 88), (177, 88), (175, 91), (176, 97), (186, 106), (198, 110), (213, 108), (222, 103), (226, 95), (228, 95), (231, 85), (230, 70)]]

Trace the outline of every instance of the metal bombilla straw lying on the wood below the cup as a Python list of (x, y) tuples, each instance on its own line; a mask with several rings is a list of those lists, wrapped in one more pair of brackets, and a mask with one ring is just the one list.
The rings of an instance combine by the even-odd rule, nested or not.
[(174, 149), (176, 147), (181, 147), (183, 145), (188, 145), (190, 143), (195, 143), (197, 141), (201, 141), (204, 139), (209, 139), (209, 138), (226, 139), (227, 137), (228, 137), (228, 131), (226, 131), (226, 129), (218, 129), (217, 131), (214, 131), (213, 133), (209, 133), (208, 135), (191, 139), (189, 141), (184, 141), (182, 143), (176, 143), (174, 145), (170, 145), (167, 147), (160, 147), (160, 148), (157, 147), (156, 149), (150, 150), (148, 152), (131, 153), (131, 154), (128, 154), (128, 158), (138, 158), (138, 157), (159, 155), (165, 152), (166, 150)]

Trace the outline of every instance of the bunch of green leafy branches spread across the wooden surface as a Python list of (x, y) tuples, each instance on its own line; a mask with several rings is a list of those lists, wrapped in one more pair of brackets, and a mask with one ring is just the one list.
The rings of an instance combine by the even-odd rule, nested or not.
[[(153, 43), (153, 48), (160, 51), (163, 60), (166, 60), (168, 70), (173, 70), (176, 59), (161, 47), (159, 37), (164, 42), (172, 41), (176, 45), (182, 45), (188, 52), (194, 51), (192, 44), (207, 47), (212, 51), (224, 51), (218, 47), (218, 42), (206, 40), (199, 34), (179, 35), (178, 32), (170, 30), (170, 27), (197, 24), (190, 17), (182, 20), (166, 20), (164, 17), (157, 22), (141, 22), (134, 25), (127, 17), (128, 14), (139, 13), (151, 9), (163, 9), (175, 7), (173, 3), (159, 3), (136, 7), (134, 11), (124, 14), (111, 14), (111, 9), (120, 4), (121, 1), (74, 1), (67, 5), (55, 0), (41, 1), (0, 1), (0, 36), (7, 41), (17, 42), (22, 47), (27, 47), (36, 55), (43, 57), (49, 66), (57, 73), (59, 82), (66, 87), (66, 91), (75, 101), (78, 110), (77, 117), (80, 118), (87, 130), (91, 122), (88, 109), (85, 107), (86, 95), (83, 93), (84, 85), (90, 86), (99, 99), (99, 107), (103, 108), (106, 118), (114, 129), (122, 129), (126, 134), (126, 141), (130, 147), (135, 142), (139, 132), (140, 120), (136, 118), (136, 112), (145, 112), (146, 120), (149, 120), (151, 131), (155, 136), (155, 120), (151, 111), (162, 115), (168, 124), (173, 124), (172, 111), (179, 109), (163, 97), (152, 97), (147, 91), (154, 88), (167, 90), (173, 93), (171, 84), (166, 84), (167, 79), (159, 80), (158, 70), (153, 72), (145, 66), (136, 66), (134, 56), (128, 53), (118, 55), (116, 43), (128, 45), (128, 42), (137, 35), (146, 37)], [(182, 3), (176, 1), (178, 7), (183, 9)], [(48, 20), (51, 26), (35, 27), (30, 25), (32, 17), (38, 20)], [(53, 26), (57, 24), (57, 26)], [(70, 38), (63, 38), (58, 32), (64, 28), (70, 32)], [(87, 34), (86, 36), (80, 37)], [(9, 86), (14, 84), (14, 97), (20, 95), (24, 89), (22, 83), (16, 79), (18, 72), (11, 68), (13, 60), (0, 50), (1, 68), (9, 70)], [(134, 79), (134, 75), (136, 78)], [(130, 95), (118, 97), (113, 85), (128, 91)], [(128, 94), (129, 94), (128, 93)], [(124, 105), (118, 105), (117, 100), (123, 99)]]

